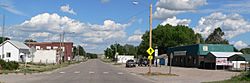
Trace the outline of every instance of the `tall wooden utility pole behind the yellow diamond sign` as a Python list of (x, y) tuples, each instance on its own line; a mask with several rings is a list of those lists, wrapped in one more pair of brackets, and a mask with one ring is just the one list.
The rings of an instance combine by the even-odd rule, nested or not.
[[(149, 48), (152, 48), (152, 3), (150, 4), (150, 29), (149, 29)], [(152, 56), (152, 55), (150, 55)], [(151, 74), (152, 59), (149, 60), (149, 74)]]

